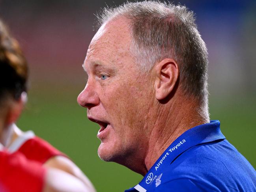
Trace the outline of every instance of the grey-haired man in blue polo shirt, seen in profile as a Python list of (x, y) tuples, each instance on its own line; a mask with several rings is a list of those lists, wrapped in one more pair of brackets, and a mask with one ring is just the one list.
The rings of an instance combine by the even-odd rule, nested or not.
[(210, 121), (207, 48), (185, 6), (105, 8), (77, 98), (98, 155), (144, 176), (128, 191), (256, 191), (256, 172)]

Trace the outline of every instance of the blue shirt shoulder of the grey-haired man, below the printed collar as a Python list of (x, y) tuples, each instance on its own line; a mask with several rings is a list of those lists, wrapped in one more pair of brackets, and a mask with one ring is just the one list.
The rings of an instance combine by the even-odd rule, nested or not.
[(182, 153), (163, 172), (159, 188), (187, 191), (189, 186), (195, 189), (192, 191), (250, 191), (256, 190), (254, 183), (255, 170), (224, 140), (197, 145)]

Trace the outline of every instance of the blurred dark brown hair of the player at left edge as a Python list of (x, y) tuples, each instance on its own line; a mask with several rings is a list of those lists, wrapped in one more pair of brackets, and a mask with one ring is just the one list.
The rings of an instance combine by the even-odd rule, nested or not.
[(18, 100), (27, 90), (27, 78), (28, 66), (19, 44), (0, 20), (0, 100), (7, 94)]

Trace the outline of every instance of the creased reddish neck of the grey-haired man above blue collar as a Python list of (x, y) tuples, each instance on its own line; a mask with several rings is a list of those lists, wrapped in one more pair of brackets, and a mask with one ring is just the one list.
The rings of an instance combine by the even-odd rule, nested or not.
[(172, 103), (169, 108), (164, 106), (166, 104), (160, 106), (163, 110), (158, 110), (162, 113), (158, 115), (149, 137), (148, 151), (144, 158), (146, 170), (142, 175), (146, 175), (167, 147), (181, 134), (197, 125), (209, 123), (208, 115), (199, 113), (200, 109), (194, 103), (196, 102), (183, 100)]

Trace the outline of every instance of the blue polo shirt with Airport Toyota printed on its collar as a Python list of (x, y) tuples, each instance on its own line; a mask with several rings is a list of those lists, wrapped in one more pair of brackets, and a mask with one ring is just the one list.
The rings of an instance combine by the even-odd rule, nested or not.
[[(255, 153), (255, 151), (253, 152)], [(125, 192), (256, 192), (256, 171), (211, 121), (187, 130)]]

